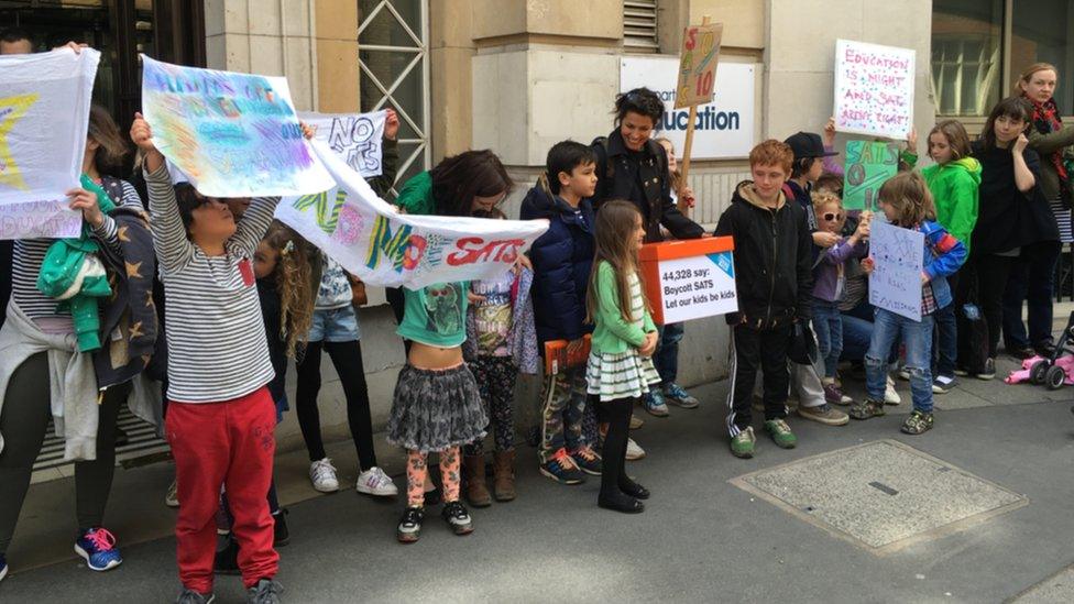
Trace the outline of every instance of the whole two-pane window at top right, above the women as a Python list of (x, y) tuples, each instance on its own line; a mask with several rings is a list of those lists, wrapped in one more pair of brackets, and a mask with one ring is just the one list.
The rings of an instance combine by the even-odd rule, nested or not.
[(941, 116), (985, 117), (1033, 63), (1059, 70), (1074, 116), (1074, 0), (933, 0), (932, 84)]

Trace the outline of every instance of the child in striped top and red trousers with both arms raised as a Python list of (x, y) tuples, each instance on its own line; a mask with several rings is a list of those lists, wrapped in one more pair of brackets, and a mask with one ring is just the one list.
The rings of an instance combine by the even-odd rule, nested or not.
[(179, 598), (211, 600), (213, 516), (224, 485), (242, 582), (252, 598), (267, 601), (282, 591), (273, 580), (280, 557), (265, 501), (276, 411), (253, 256), (280, 198), (254, 199), (237, 222), (227, 199), (205, 197), (189, 184), (172, 186), (152, 136), (135, 113), (131, 139), (145, 152), (153, 244), (168, 308), (165, 431), (182, 502), (175, 526)]

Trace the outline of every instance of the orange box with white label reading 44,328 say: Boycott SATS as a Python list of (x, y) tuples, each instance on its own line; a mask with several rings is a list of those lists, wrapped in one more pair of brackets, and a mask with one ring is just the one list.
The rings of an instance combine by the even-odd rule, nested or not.
[(730, 237), (665, 241), (642, 246), (645, 294), (658, 325), (738, 310)]

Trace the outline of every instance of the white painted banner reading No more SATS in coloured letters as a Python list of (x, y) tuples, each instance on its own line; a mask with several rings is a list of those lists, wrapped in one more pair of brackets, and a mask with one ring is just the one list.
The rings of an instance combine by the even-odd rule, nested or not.
[(491, 278), (548, 229), (547, 220), (399, 213), (328, 145), (314, 141), (313, 149), (339, 186), (285, 197), (276, 218), (370, 285), (420, 289)]

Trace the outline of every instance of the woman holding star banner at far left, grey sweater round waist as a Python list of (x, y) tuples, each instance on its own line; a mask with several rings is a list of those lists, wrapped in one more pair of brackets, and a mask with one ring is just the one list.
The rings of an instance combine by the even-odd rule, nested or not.
[[(127, 152), (127, 144), (108, 111), (91, 108), (83, 157), (85, 176), (101, 187), (101, 174), (118, 168)], [(116, 205), (141, 209), (142, 202), (130, 184), (113, 179), (105, 188), (122, 191), (121, 198), (112, 199)], [(116, 222), (101, 212), (99, 194), (76, 188), (67, 195), (72, 209), (81, 211), (94, 241), (122, 257)], [(57, 419), (57, 432), (66, 438), (67, 459), (77, 460), (79, 532), (75, 551), (95, 571), (106, 571), (122, 562), (116, 538), (101, 524), (116, 466), (116, 419), (131, 386), (128, 382), (98, 392), (91, 354), (80, 353), (76, 347), (70, 311), (58, 308), (57, 299), (37, 290), (37, 274), (45, 253), (56, 241), (14, 242), (12, 297), (8, 320), (0, 330), (0, 389), (10, 394), (4, 395), (0, 413), (0, 576), (7, 570), (4, 552), (30, 487), (33, 464), (52, 415), (50, 408), (55, 409), (57, 405), (63, 408), (63, 424)], [(63, 383), (66, 392), (64, 388), (53, 392), (50, 378), (52, 383)]]

